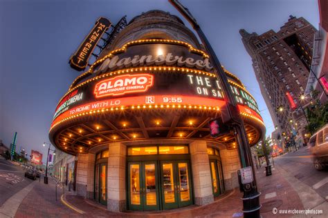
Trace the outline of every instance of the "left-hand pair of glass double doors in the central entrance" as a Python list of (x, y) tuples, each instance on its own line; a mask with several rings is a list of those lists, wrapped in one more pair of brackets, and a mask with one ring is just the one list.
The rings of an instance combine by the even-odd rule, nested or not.
[(156, 161), (128, 164), (128, 201), (131, 210), (159, 210)]

